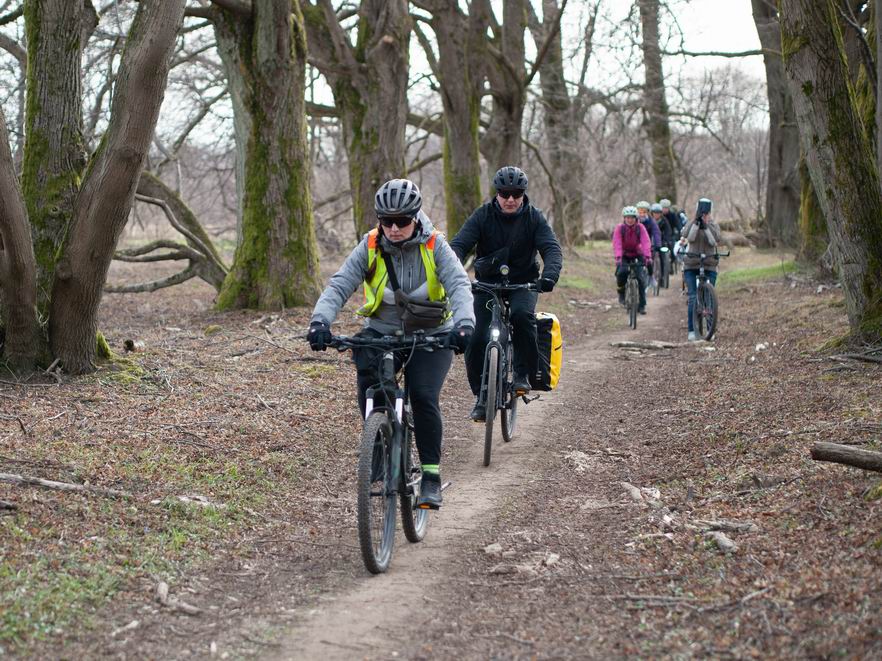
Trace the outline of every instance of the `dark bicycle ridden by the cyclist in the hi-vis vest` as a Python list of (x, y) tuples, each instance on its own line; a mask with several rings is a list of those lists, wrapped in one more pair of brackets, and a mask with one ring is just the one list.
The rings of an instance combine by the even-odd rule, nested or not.
[[(395, 542), (396, 502), (401, 504), (401, 527), (407, 541), (426, 536), (427, 509), (416, 505), (422, 470), (413, 444), (413, 414), (405, 367), (413, 352), (423, 347), (446, 348), (444, 338), (416, 331), (412, 336), (334, 336), (330, 346), (346, 349), (379, 349), (380, 382), (368, 388), (364, 426), (358, 452), (358, 541), (364, 565), (372, 574), (389, 568)], [(404, 387), (395, 375), (395, 354), (408, 351), (401, 372)], [(445, 484), (441, 488), (445, 489)]]

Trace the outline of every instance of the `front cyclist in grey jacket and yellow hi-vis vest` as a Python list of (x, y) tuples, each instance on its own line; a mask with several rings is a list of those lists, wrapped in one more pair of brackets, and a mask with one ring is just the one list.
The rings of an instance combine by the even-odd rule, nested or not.
[[(364, 285), (365, 304), (356, 314), (366, 318), (358, 335), (380, 337), (405, 329), (401, 307), (390, 281), (413, 301), (443, 301), (437, 326), (428, 335), (446, 334), (446, 346), (462, 352), (475, 327), (469, 277), (444, 235), (437, 232), (424, 214), (422, 195), (408, 179), (393, 179), (380, 186), (374, 198), (378, 225), (368, 232), (331, 276), (328, 286), (312, 311), (307, 339), (314, 351), (324, 351), (331, 341), (331, 324), (340, 309)], [(395, 278), (387, 264), (391, 264)], [(400, 300), (400, 297), (398, 297)], [(365, 391), (379, 382), (378, 349), (357, 349), (352, 359), (358, 373), (358, 405), (365, 410)], [(418, 350), (407, 364), (410, 403), (413, 407), (414, 437), (422, 464), (423, 479), (419, 505), (441, 505), (442, 421), (438, 404), (441, 386), (450, 370), (450, 350)], [(396, 356), (396, 370), (401, 359)]]

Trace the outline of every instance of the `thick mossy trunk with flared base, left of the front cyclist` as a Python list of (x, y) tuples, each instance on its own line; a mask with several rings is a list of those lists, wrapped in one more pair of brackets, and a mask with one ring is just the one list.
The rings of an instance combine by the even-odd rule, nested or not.
[[(320, 287), (306, 140), (306, 38), (290, 0), (254, 0), (241, 63), (251, 134), (245, 162), (242, 240), (218, 295), (226, 308), (278, 310), (312, 303)], [(293, 12), (293, 13), (292, 13)], [(222, 21), (240, 21), (224, 12)], [(248, 45), (246, 52), (246, 44)]]

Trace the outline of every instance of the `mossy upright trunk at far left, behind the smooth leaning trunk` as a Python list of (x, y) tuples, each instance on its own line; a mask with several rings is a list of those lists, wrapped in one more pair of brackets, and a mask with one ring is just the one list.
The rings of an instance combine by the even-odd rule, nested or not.
[(71, 0), (27, 0), (24, 8), (29, 65), (21, 186), (37, 260), (37, 308), (44, 319), (86, 164), (84, 14), (84, 3)]

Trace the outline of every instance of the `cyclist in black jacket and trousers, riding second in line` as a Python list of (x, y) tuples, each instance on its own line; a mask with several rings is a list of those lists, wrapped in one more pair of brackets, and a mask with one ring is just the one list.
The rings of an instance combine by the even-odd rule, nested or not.
[[(502, 280), (499, 267), (509, 267), (511, 284), (536, 282), (542, 292), (550, 292), (557, 284), (563, 266), (560, 243), (544, 214), (530, 204), (527, 197), (527, 175), (518, 167), (507, 165), (493, 177), (496, 195), (478, 207), (450, 242), (460, 258), (475, 249), (475, 276), (481, 282), (498, 283)], [(536, 261), (542, 256), (542, 275)], [(536, 373), (539, 350), (536, 346), (536, 292), (521, 289), (507, 293), (514, 327), (514, 381), (512, 387), (529, 392), (530, 375)], [(489, 340), (492, 314), (490, 295), (475, 294), (475, 334), (466, 349), (466, 370), (469, 386), (475, 395), (471, 419), (483, 422), (486, 407), (481, 403), (481, 374), (484, 371), (484, 352)]]

